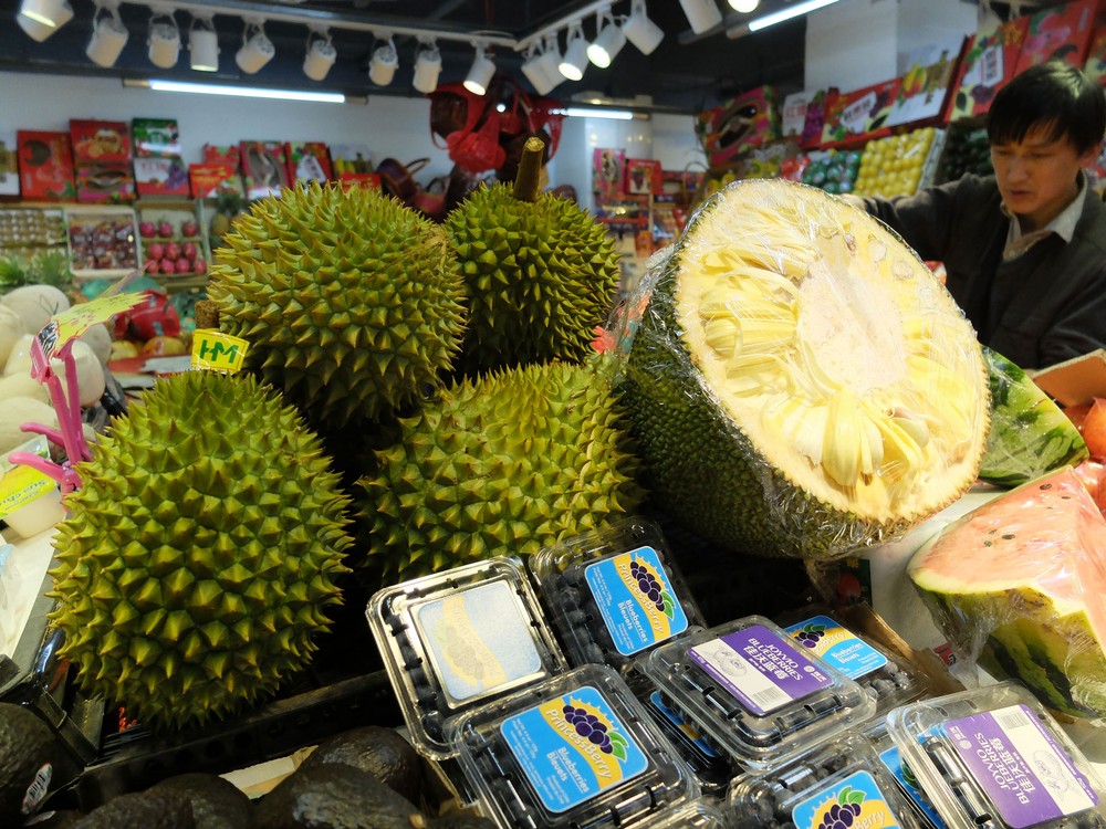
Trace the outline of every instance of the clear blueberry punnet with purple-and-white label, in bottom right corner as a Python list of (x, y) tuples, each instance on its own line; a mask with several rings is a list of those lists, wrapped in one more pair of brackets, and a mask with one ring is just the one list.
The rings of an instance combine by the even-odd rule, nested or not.
[(887, 731), (950, 829), (1106, 825), (1103, 781), (1019, 683), (905, 705)]

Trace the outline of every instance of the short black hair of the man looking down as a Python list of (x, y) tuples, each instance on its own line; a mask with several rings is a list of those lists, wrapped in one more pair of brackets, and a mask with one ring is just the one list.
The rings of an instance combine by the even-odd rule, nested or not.
[(1106, 133), (1106, 96), (1078, 69), (1060, 60), (1030, 66), (999, 90), (987, 114), (992, 145), (1023, 141), (1034, 128), (1067, 138), (1079, 155)]

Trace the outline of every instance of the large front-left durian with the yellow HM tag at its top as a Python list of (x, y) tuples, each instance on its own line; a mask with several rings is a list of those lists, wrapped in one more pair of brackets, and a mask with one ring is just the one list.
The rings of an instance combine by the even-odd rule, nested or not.
[(349, 499), (272, 388), (161, 378), (76, 470), (50, 618), (84, 691), (180, 726), (306, 664), (341, 601)]

